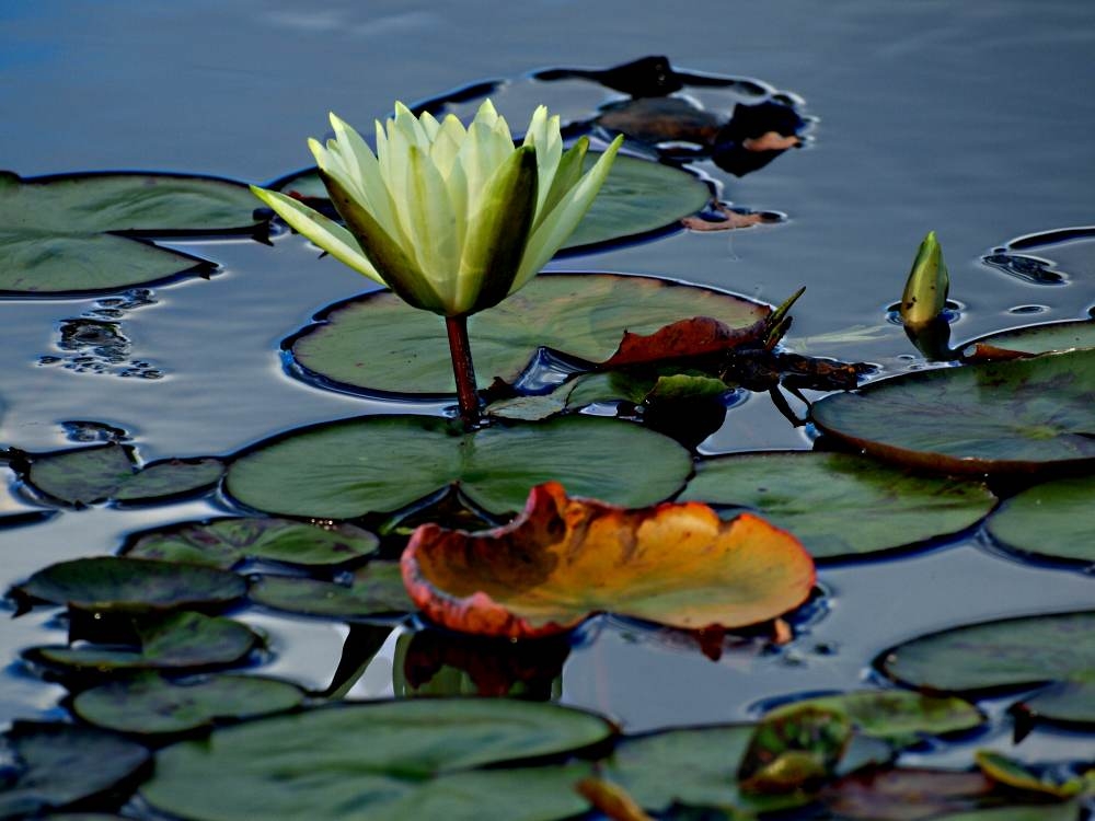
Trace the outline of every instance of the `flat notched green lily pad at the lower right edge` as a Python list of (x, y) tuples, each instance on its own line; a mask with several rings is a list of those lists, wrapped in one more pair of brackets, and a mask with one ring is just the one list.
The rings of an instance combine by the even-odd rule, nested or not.
[[(932, 693), (980, 695), (1052, 682), (1090, 685), (1095, 679), (1095, 611), (932, 633), (884, 652), (878, 664), (895, 681)], [(1049, 720), (1095, 724), (1095, 699), (1082, 705), (1065, 697), (1058, 703), (1054, 691), (1044, 692), (1029, 699), (1035, 708), (1023, 703), (1017, 707)]]

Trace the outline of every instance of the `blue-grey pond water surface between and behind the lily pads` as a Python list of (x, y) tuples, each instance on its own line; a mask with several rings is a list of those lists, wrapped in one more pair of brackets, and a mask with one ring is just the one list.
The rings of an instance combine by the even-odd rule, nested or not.
[[(788, 346), (884, 372), (923, 361), (886, 312), (929, 230), (943, 243), (960, 307), (955, 340), (1081, 319), (1095, 305), (1090, 238), (1022, 252), (1051, 259), (1070, 275), (1064, 285), (1031, 284), (982, 262), (1013, 238), (1092, 222), (1095, 5), (1081, 0), (835, 0), (823, 10), (804, 0), (684, 9), (616, 0), (335, 0), (322, 10), (286, 0), (8, 3), (0, 10), (0, 164), (23, 176), (140, 169), (268, 181), (308, 163), (304, 138), (322, 132), (328, 111), (364, 126), (393, 99), (647, 54), (757, 78), (805, 100), (818, 122), (804, 149), (741, 178), (700, 164), (725, 186), (725, 199), (787, 220), (678, 232), (557, 259), (553, 269), (650, 274), (771, 303), (805, 285)], [(132, 300), (120, 319), (128, 343), (115, 361), (90, 354), (97, 370), (66, 367), (89, 352), (59, 343), (65, 323), (94, 317), (105, 294), (0, 301), (4, 447), (70, 447), (62, 424), (94, 420), (125, 430), (145, 461), (230, 454), (297, 426), (383, 409), (291, 379), (278, 355), (284, 337), (367, 290), (365, 280), (316, 262), (288, 234), (273, 247), (250, 240), (173, 246), (215, 261), (219, 271)], [(758, 394), (731, 408), (702, 450), (809, 449), (811, 436)], [(0, 513), (37, 509), (12, 473), (0, 475), (11, 485)], [(114, 552), (134, 530), (222, 512), (198, 500), (70, 510), (9, 528), (0, 531), (0, 580)], [(880, 650), (922, 633), (1095, 602), (1090, 575), (1002, 557), (977, 533), (885, 560), (828, 565), (819, 583), (826, 612), (779, 652), (730, 649), (715, 662), (677, 634), (590, 624), (567, 658), (560, 701), (627, 730), (745, 719), (775, 697), (862, 686)], [(257, 609), (244, 618), (272, 637), (264, 672), (326, 686), (344, 625)], [(351, 695), (392, 693), (397, 633)], [(64, 691), (15, 661), (22, 647), (62, 637), (49, 614), (7, 624), (0, 720), (64, 715)], [(972, 747), (1030, 761), (1093, 750), (1092, 736), (1053, 729), (1013, 744), (999, 722), (930, 758), (964, 765)]]

